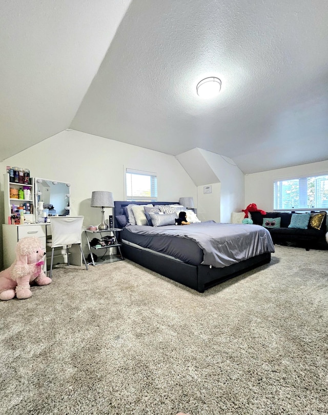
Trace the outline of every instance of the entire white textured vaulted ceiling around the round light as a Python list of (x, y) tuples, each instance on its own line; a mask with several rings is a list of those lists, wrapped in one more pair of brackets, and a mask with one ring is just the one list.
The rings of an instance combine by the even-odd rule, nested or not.
[(327, 22), (323, 0), (5, 2), (0, 159), (72, 128), (244, 173), (328, 160)]

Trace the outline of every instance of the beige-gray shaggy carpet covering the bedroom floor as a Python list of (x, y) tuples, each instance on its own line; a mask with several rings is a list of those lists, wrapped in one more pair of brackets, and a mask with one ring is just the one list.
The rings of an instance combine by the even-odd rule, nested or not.
[(130, 261), (56, 269), (0, 302), (0, 412), (328, 413), (328, 251), (203, 294)]

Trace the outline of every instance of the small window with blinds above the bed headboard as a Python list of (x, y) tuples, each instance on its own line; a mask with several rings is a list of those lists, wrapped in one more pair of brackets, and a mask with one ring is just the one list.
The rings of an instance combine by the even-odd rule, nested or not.
[(127, 169), (126, 190), (128, 201), (156, 201), (156, 173)]

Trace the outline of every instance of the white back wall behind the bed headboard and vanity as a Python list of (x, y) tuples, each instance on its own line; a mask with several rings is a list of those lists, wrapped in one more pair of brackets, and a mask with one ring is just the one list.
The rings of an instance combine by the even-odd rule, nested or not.
[[(90, 207), (93, 190), (111, 191), (114, 200), (124, 200), (125, 167), (156, 172), (159, 201), (178, 201), (185, 195), (197, 200), (196, 185), (174, 156), (75, 130), (60, 132), (9, 157), (0, 163), (0, 172), (6, 173), (6, 166), (29, 168), (33, 177), (71, 183), (71, 214), (84, 215), (85, 226), (101, 221), (100, 209)], [(0, 220), (5, 223), (0, 176)], [(106, 209), (107, 218), (111, 213)], [(0, 237), (2, 241), (2, 230)], [(0, 255), (2, 267), (2, 246)]]

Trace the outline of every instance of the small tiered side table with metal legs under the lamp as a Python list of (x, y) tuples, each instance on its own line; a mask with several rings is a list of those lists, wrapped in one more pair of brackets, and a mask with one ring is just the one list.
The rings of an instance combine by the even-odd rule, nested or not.
[[(121, 245), (117, 242), (117, 238), (116, 238), (116, 232), (121, 231), (122, 229), (119, 228), (108, 228), (106, 230), (89, 230), (89, 229), (85, 229), (85, 233), (86, 233), (86, 238), (87, 238), (87, 243), (88, 243), (88, 247), (89, 247), (89, 252), (90, 252), (90, 256), (91, 256), (91, 262), (89, 262), (89, 265), (101, 265), (101, 264), (107, 264), (109, 262), (116, 262), (116, 261), (122, 261), (124, 260), (122, 252), (121, 252)], [(97, 234), (98, 236), (94, 236), (95, 234)], [(91, 241), (93, 238), (97, 238), (99, 239), (100, 243), (99, 245), (95, 245), (95, 246), (91, 246)], [(107, 250), (109, 248), (116, 248), (117, 249), (117, 254), (107, 254)], [(101, 258), (103, 258), (102, 261), (99, 261), (99, 263), (96, 263), (94, 260), (94, 256), (92, 251), (93, 250), (98, 250), (101, 249), (104, 251), (104, 249), (106, 249), (105, 253), (103, 254), (103, 256)], [(101, 251), (99, 251), (101, 252)]]

